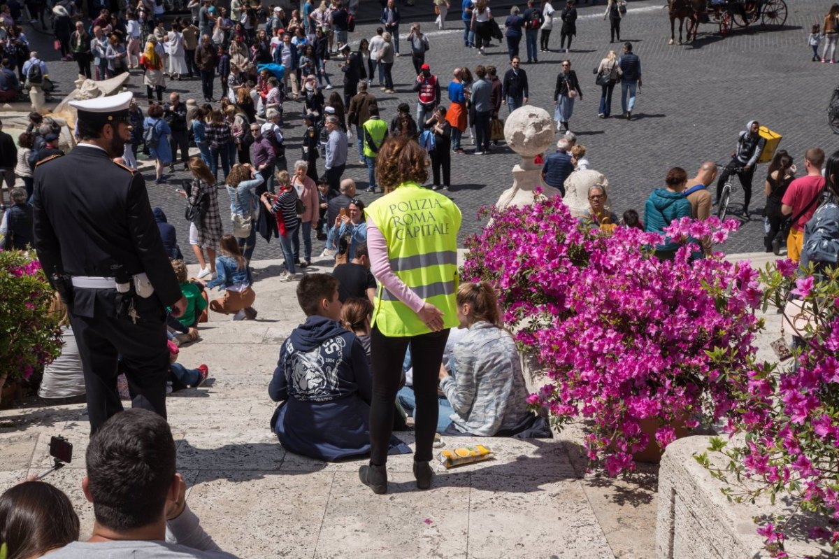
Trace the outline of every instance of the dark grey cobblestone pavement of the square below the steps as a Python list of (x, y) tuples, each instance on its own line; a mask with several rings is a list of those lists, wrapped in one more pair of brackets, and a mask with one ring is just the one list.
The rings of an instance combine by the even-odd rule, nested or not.
[[(522, 3), (524, 7), (524, 2)], [(538, 65), (523, 65), (530, 81), (530, 102), (553, 111), (553, 86), (560, 71), (560, 60), (571, 59), (581, 81), (584, 98), (577, 101), (571, 118), (571, 129), (585, 144), (591, 167), (607, 175), (612, 190), (612, 210), (622, 213), (636, 208), (643, 214), (644, 201), (649, 192), (664, 183), (664, 175), (673, 166), (684, 167), (690, 176), (705, 159), (727, 161), (737, 138), (745, 124), (758, 119), (769, 128), (781, 133), (783, 149), (794, 154), (796, 163), (803, 170), (805, 149), (820, 146), (830, 154), (835, 149), (835, 139), (826, 122), (826, 106), (831, 92), (836, 87), (839, 65), (810, 62), (807, 34), (810, 25), (821, 22), (828, 7), (816, 0), (791, 0), (788, 3), (789, 17), (782, 29), (764, 30), (760, 25), (749, 29), (735, 29), (722, 38), (712, 24), (700, 26), (699, 39), (694, 44), (668, 45), (669, 21), (667, 10), (661, 0), (631, 2), (628, 14), (622, 24), (622, 39), (631, 40), (635, 52), (642, 61), (644, 89), (638, 95), (633, 121), (615, 118), (620, 114), (619, 87), (612, 101), (612, 118), (597, 118), (599, 87), (594, 84), (591, 69), (606, 55), (607, 50), (618, 50), (618, 44), (609, 44), (608, 23), (602, 19), (603, 6), (579, 8), (577, 22), (578, 36), (570, 54), (556, 52), (559, 47), (559, 25), (551, 36), (552, 52), (539, 53)], [(506, 17), (506, 8), (498, 9), (498, 16)], [(499, 74), (508, 68), (506, 45), (493, 42), (486, 56), (477, 50), (465, 50), (462, 43), (462, 29), (458, 13), (450, 13), (446, 22), (450, 29), (438, 31), (433, 28), (433, 14), (420, 19), (425, 31), (429, 32), (431, 49), (426, 61), (431, 70), (440, 76), (445, 84), (456, 65), (474, 68), (478, 64), (496, 65)], [(407, 22), (406, 22), (407, 23)], [(374, 24), (358, 25), (352, 34), (353, 44), (361, 37), (374, 34)], [(403, 25), (403, 31), (407, 25)], [(40, 50), (49, 49), (49, 58), (55, 58), (50, 49), (51, 38), (34, 34)], [(407, 45), (400, 44), (403, 53)], [(522, 44), (524, 52), (524, 44)], [(330, 63), (336, 71), (336, 64)], [(61, 91), (70, 91), (71, 80), (75, 78), (75, 63), (51, 61), (50, 74), (59, 82)], [(411, 91), (413, 65), (409, 56), (396, 59), (393, 78), (395, 94), (384, 94), (373, 88), (383, 108), (383, 118), (390, 119), (399, 102), (415, 106), (415, 94)], [(341, 76), (333, 76), (336, 90), (341, 91)], [(216, 80), (217, 82), (217, 80)], [(377, 84), (378, 85), (378, 84)], [(134, 76), (130, 87), (144, 94), (142, 79)], [(169, 91), (180, 91), (182, 98), (201, 99), (200, 81), (180, 81), (169, 84)], [(216, 88), (218, 84), (216, 83)], [(330, 91), (331, 92), (331, 91)], [(444, 92), (444, 102), (447, 97)], [(288, 115), (284, 133), (287, 141), (289, 162), (300, 154), (300, 109), (302, 103), (287, 102)], [(507, 109), (503, 107), (502, 118)], [(466, 140), (469, 151), (471, 142)], [(344, 176), (356, 180), (361, 188), (367, 185), (366, 167), (358, 165), (357, 151), (350, 150), (347, 171)], [(510, 170), (518, 156), (502, 145), (492, 154), (452, 156), (452, 187), (447, 193), (456, 201), (464, 214), (461, 229), (461, 243), (467, 235), (477, 232), (482, 222), (477, 220), (478, 209), (492, 204), (499, 194), (512, 184)], [(323, 165), (322, 159), (320, 165)], [(761, 165), (755, 175), (751, 221), (744, 222), (740, 231), (729, 241), (726, 250), (730, 253), (758, 251), (762, 248), (763, 220), (763, 175)], [(322, 171), (322, 167), (320, 167)], [(147, 175), (147, 179), (154, 178)], [(182, 171), (175, 174), (175, 180), (185, 178)], [(360, 190), (359, 189), (359, 190)], [(227, 195), (221, 191), (222, 207)], [(374, 196), (360, 192), (365, 201)], [(732, 196), (732, 203), (739, 207), (742, 190)], [(183, 201), (174, 192), (173, 185), (159, 186), (149, 183), (149, 198), (153, 205), (163, 206), (178, 227), (181, 248), (186, 248), (187, 226), (183, 218)], [(319, 250), (315, 242), (315, 250)], [(266, 245), (258, 240), (257, 259), (281, 258), (279, 243)], [(191, 257), (190, 257), (191, 258)]]

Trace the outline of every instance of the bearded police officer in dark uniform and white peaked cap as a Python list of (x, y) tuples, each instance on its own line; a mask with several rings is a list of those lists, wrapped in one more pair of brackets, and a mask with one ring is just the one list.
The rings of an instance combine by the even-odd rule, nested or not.
[(70, 102), (80, 143), (34, 173), (35, 249), (70, 310), (91, 433), (122, 411), (117, 357), (133, 407), (166, 416), (165, 307), (179, 316), (186, 305), (143, 176), (112, 160), (131, 136), (132, 97)]

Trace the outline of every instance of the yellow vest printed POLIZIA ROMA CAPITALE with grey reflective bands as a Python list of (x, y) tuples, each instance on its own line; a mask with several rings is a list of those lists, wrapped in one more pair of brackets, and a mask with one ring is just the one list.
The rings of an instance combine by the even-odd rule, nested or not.
[[(443, 312), (443, 326), (457, 321), (457, 232), (461, 211), (446, 196), (408, 182), (367, 206), (388, 242), (390, 268), (420, 298)], [(384, 289), (373, 303), (372, 324), (391, 337), (431, 332), (420, 317)]]

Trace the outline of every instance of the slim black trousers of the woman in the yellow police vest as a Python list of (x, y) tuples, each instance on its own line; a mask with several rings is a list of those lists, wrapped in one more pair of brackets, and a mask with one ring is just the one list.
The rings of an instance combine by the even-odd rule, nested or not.
[(370, 463), (383, 466), (388, 462), (388, 447), (393, 434), (393, 402), (402, 377), (405, 350), (411, 347), (414, 363), (414, 396), (416, 419), (414, 461), (431, 459), (434, 433), (437, 429), (437, 379), (449, 331), (430, 332), (412, 337), (388, 337), (373, 327), (370, 335), (373, 361), (373, 401), (370, 402)]

